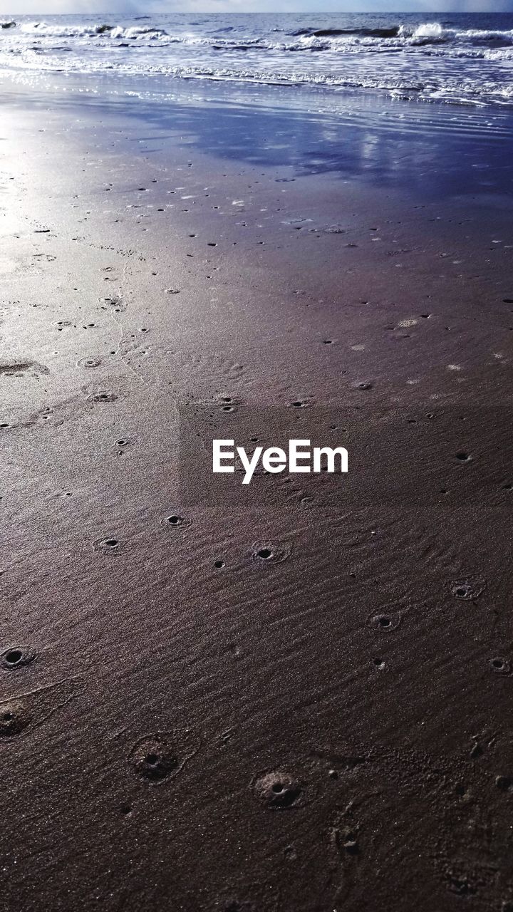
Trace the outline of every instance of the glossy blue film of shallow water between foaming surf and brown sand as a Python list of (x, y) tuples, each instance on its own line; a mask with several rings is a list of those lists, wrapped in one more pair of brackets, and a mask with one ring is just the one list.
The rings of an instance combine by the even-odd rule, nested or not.
[[(203, 83), (129, 75), (25, 73), (2, 98), (26, 109), (52, 107), (69, 124), (77, 112), (98, 123), (122, 114), (144, 122), (152, 157), (165, 163), (168, 140), (192, 155), (252, 167), (286, 167), (287, 179), (325, 174), (425, 203), (455, 196), (508, 205), (513, 192), (513, 113), (404, 104), (376, 93), (324, 88)], [(149, 84), (151, 83), (151, 84)], [(158, 137), (158, 139), (156, 139)], [(284, 183), (283, 190), (288, 184)], [(499, 195), (497, 195), (499, 194)]]

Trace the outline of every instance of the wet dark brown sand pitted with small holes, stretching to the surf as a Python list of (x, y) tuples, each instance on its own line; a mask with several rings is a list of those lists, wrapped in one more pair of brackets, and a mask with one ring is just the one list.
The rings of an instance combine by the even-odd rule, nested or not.
[(3, 88), (2, 908), (505, 912), (510, 121), (246, 91)]

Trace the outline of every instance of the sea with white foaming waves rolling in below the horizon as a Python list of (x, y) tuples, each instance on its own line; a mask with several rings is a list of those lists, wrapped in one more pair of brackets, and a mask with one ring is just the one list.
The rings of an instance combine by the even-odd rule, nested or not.
[(0, 74), (117, 73), (513, 106), (513, 14), (4, 16)]

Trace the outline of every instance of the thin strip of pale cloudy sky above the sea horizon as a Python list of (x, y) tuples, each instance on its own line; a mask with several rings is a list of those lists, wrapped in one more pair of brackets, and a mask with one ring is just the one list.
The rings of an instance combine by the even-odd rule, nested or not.
[[(14, 12), (16, 9), (16, 13)], [(58, 13), (513, 12), (513, 0), (0, 0), (1, 16)]]

